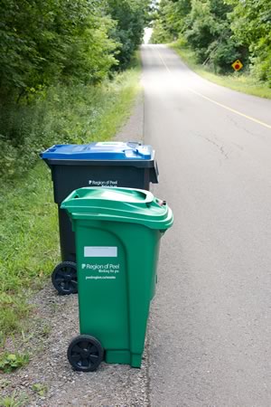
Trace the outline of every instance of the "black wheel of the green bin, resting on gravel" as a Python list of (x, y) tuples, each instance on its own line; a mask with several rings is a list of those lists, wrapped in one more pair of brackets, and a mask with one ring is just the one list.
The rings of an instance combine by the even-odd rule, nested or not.
[(93, 372), (103, 360), (104, 349), (94, 336), (79, 335), (70, 342), (67, 355), (74, 370)]

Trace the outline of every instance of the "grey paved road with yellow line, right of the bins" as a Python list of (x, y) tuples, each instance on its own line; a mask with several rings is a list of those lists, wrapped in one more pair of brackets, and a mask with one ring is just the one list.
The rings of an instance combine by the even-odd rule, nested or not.
[(145, 142), (172, 206), (149, 326), (153, 407), (271, 405), (271, 100), (142, 48)]

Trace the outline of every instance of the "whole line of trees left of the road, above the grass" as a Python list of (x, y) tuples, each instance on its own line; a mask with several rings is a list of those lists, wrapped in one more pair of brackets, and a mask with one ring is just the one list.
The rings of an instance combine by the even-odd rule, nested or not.
[(148, 0), (2, 0), (1, 99), (56, 81), (95, 84), (141, 43)]

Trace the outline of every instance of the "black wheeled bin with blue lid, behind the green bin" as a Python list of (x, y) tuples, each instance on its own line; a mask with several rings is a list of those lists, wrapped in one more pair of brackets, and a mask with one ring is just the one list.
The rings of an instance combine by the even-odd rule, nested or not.
[(61, 202), (83, 186), (150, 189), (158, 183), (154, 149), (137, 142), (56, 145), (40, 154), (51, 168), (54, 202), (58, 204), (61, 260), (51, 275), (60, 294), (77, 292), (75, 237)]

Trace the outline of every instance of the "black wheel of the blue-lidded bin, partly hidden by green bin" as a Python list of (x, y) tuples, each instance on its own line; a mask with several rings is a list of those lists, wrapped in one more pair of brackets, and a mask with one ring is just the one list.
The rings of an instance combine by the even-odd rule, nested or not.
[(52, 271), (51, 282), (61, 295), (77, 293), (77, 269), (76, 263), (62, 261)]

